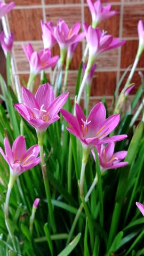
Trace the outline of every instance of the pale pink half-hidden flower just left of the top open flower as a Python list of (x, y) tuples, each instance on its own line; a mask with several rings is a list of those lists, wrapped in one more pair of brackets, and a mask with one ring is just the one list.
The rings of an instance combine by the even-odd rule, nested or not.
[(52, 35), (49, 27), (51, 27), (51, 29), (53, 30), (54, 29), (54, 25), (53, 23), (50, 21), (50, 22), (43, 22), (41, 20), (41, 27), (42, 27), (42, 38), (43, 38), (43, 44), (44, 44), (44, 48), (49, 48), (51, 49), (53, 47), (53, 45), (55, 43), (57, 43), (57, 40), (54, 38), (54, 36)]

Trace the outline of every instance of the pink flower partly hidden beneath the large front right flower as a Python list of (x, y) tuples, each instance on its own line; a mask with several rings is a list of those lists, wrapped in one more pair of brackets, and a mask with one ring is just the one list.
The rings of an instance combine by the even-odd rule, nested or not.
[[(106, 147), (104, 145), (97, 145), (96, 148), (98, 151), (102, 172), (108, 169), (119, 168), (128, 164), (128, 162), (121, 162), (125, 158), (127, 151), (123, 150), (114, 153), (114, 142), (109, 143)], [(92, 149), (92, 154), (95, 161), (94, 149)]]

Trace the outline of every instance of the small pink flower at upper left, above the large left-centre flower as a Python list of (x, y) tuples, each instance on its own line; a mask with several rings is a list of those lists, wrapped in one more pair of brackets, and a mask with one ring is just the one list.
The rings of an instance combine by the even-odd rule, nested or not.
[(41, 70), (53, 67), (58, 61), (59, 56), (51, 58), (50, 49), (44, 49), (40, 52), (35, 52), (33, 46), (30, 43), (28, 43), (27, 48), (23, 44), (22, 47), (29, 60), (30, 73), (35, 75), (38, 74), (38, 72)]

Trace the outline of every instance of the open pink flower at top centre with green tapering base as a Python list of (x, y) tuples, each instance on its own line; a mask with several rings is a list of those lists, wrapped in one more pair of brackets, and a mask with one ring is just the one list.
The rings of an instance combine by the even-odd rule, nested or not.
[(69, 29), (67, 23), (59, 19), (57, 26), (52, 27), (47, 25), (47, 27), (60, 46), (61, 62), (63, 63), (69, 45), (79, 42), (85, 37), (85, 33), (78, 34), (81, 23), (76, 22), (75, 25)]

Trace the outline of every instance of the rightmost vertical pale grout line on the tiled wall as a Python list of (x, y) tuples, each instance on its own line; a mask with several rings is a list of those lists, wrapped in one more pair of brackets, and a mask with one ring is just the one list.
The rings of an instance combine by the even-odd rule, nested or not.
[[(122, 33), (123, 33), (123, 0), (121, 1), (121, 12), (120, 12), (120, 18), (119, 18), (119, 40), (121, 41), (122, 39)], [(120, 68), (121, 68), (121, 52), (122, 52), (122, 47), (118, 48), (118, 59), (117, 59), (117, 76), (116, 76), (116, 84), (119, 82), (120, 78)]]

